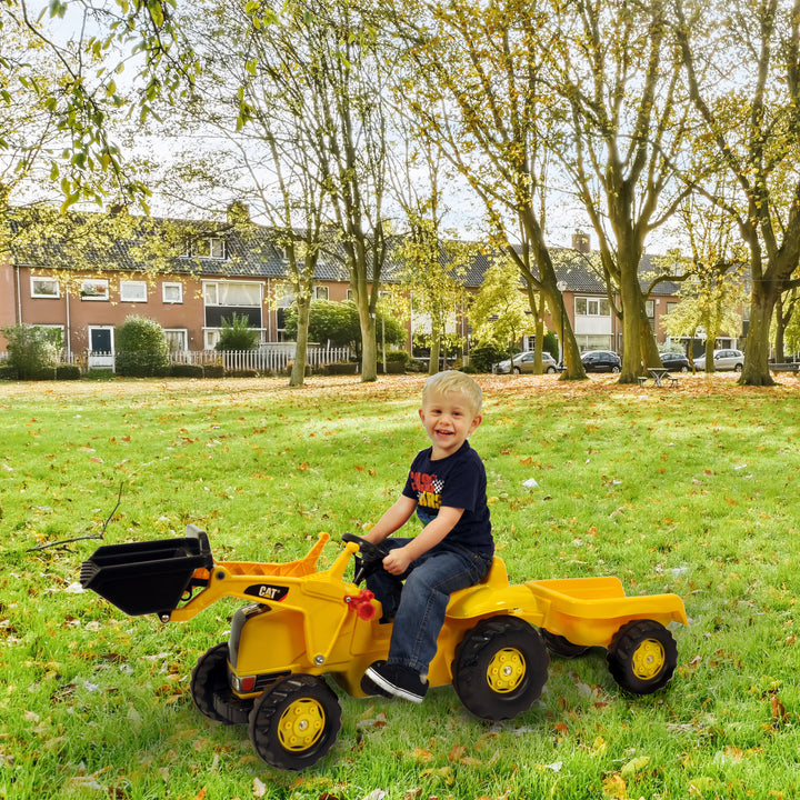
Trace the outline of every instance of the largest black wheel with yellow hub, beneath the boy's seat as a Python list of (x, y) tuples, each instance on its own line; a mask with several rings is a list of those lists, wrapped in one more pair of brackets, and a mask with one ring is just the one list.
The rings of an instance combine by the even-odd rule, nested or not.
[(456, 649), (453, 688), (476, 717), (511, 719), (541, 694), (549, 663), (536, 628), (516, 617), (490, 617)]

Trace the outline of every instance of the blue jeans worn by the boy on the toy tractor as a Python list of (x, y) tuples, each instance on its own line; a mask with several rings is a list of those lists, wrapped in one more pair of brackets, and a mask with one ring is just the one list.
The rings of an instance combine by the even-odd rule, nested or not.
[[(393, 550), (409, 541), (389, 538), (382, 546)], [(436, 656), (451, 592), (480, 582), (491, 563), (490, 553), (477, 553), (444, 540), (412, 561), (403, 576), (379, 569), (367, 578), (367, 588), (380, 600), (384, 616), (394, 617), (388, 663), (426, 674)], [(400, 592), (401, 580), (406, 583)]]

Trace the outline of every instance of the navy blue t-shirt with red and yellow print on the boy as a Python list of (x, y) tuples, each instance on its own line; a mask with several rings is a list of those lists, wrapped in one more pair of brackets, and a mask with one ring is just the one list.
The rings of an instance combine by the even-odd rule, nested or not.
[(491, 534), (487, 504), (486, 468), (480, 456), (466, 441), (452, 456), (431, 460), (433, 448), (421, 450), (411, 463), (402, 493), (417, 501), (417, 516), (423, 526), (436, 519), (442, 506), (464, 512), (448, 539), (479, 553), (491, 556)]

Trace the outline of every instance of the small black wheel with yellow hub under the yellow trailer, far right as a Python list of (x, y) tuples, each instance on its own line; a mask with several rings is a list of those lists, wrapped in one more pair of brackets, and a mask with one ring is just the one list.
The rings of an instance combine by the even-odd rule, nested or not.
[(660, 622), (637, 620), (622, 626), (608, 648), (611, 677), (633, 694), (651, 694), (669, 681), (678, 663), (678, 646)]

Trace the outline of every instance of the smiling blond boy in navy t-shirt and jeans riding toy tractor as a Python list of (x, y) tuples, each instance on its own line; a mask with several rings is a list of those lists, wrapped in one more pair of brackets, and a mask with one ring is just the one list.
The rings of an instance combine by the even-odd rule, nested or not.
[[(422, 702), (450, 593), (478, 583), (491, 567), (486, 469), (467, 441), (481, 423), (481, 403), (480, 387), (463, 372), (428, 379), (419, 416), (431, 447), (417, 454), (400, 498), (364, 537), (390, 551), (367, 586), (383, 617), (394, 618), (388, 659), (364, 674), (368, 693)], [(387, 539), (414, 511), (423, 529)]]

